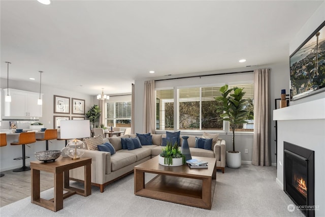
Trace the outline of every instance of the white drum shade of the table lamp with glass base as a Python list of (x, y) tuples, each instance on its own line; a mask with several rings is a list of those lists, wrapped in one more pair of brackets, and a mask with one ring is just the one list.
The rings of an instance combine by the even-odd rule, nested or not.
[(60, 137), (63, 139), (77, 139), (90, 137), (90, 121), (61, 120)]

